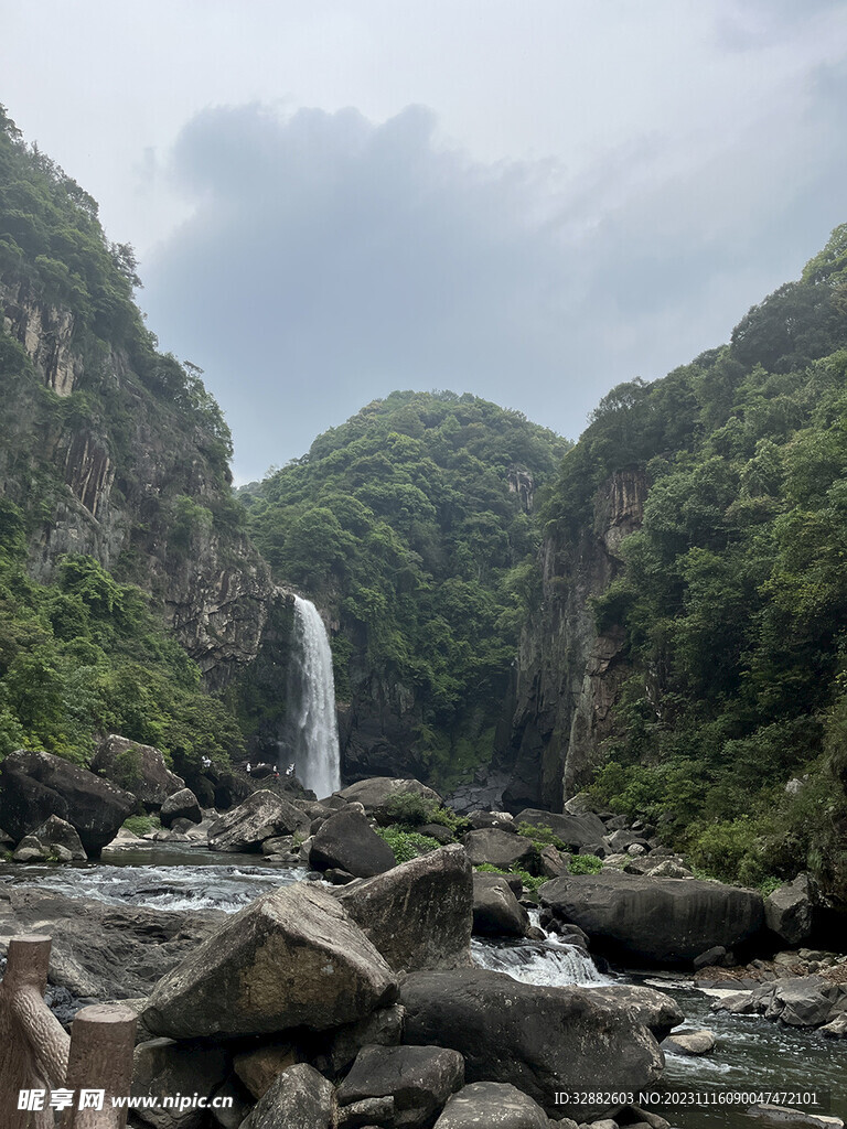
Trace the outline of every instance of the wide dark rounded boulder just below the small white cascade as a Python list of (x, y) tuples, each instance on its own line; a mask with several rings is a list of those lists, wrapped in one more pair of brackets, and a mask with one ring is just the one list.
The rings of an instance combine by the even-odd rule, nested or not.
[(452, 1047), (464, 1054), (469, 1082), (509, 1083), (549, 1114), (561, 1113), (557, 1091), (596, 1091), (597, 1078), (604, 1089), (639, 1091), (664, 1065), (649, 1031), (591, 989), (521, 983), (486, 969), (413, 972), (401, 1003), (404, 1042)]

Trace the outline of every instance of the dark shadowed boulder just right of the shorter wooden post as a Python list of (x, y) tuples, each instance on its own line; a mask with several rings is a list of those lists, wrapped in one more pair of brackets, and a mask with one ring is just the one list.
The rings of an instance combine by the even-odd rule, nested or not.
[(132, 1060), (131, 1094), (159, 1100), (158, 1106), (139, 1109), (139, 1118), (155, 1129), (197, 1129), (204, 1122), (206, 1110), (165, 1109), (161, 1099), (176, 1094), (211, 1097), (229, 1070), (229, 1054), (219, 1047), (185, 1047), (172, 1039), (139, 1043)]

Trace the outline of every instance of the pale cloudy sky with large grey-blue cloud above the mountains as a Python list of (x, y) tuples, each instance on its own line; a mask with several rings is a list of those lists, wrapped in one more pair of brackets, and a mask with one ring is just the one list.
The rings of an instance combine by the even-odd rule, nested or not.
[(131, 243), (236, 481), (394, 388), (576, 438), (847, 220), (847, 0), (40, 0), (0, 102)]

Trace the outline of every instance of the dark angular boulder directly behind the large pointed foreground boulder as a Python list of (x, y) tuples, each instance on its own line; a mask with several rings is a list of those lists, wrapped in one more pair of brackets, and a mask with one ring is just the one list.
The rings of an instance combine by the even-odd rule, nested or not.
[(338, 899), (396, 972), (471, 963), (472, 872), (459, 843), (346, 886)]

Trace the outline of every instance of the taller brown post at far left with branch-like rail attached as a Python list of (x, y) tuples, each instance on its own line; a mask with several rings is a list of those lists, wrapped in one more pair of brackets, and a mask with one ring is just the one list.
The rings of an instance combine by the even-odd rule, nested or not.
[[(70, 1039), (44, 1003), (50, 937), (12, 937), (0, 983), (0, 1129), (47, 1129), (53, 1111), (19, 1110), (20, 1091), (61, 1086)], [(46, 1104), (46, 1103), (45, 1103)]]

